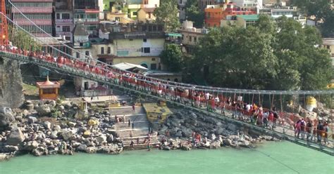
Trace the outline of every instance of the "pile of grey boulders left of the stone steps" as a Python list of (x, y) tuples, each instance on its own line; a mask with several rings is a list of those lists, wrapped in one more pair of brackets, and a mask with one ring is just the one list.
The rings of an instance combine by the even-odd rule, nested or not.
[[(50, 117), (55, 110), (59, 112), (56, 118)], [(27, 101), (24, 109), (13, 111), (1, 107), (0, 154), (3, 154), (0, 159), (20, 153), (41, 156), (73, 152), (119, 154), (123, 151), (111, 116), (91, 111), (87, 119), (78, 120), (74, 117), (76, 112), (77, 105), (59, 105), (54, 101), (39, 104)]]

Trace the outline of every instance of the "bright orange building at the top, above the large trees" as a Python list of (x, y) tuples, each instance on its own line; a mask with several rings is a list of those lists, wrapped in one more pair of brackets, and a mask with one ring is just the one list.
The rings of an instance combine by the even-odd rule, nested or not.
[(206, 27), (220, 27), (221, 20), (228, 15), (255, 15), (256, 9), (240, 8), (233, 3), (208, 6), (204, 10), (204, 22)]

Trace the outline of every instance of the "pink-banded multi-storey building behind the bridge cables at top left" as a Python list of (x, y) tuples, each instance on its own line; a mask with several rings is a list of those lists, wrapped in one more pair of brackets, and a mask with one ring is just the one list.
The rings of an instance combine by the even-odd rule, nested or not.
[[(53, 0), (11, 0), (13, 21), (35, 36), (47, 36), (33, 25), (27, 18), (35, 22), (48, 34), (52, 34), (52, 2)], [(18, 8), (18, 9), (17, 9)], [(20, 14), (20, 11), (24, 14)]]

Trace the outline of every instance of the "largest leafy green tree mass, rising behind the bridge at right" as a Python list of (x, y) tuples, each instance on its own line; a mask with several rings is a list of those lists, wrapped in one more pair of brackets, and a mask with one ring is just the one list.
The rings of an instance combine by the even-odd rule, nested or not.
[[(212, 29), (188, 65), (203, 69), (214, 86), (273, 90), (325, 88), (333, 77), (330, 55), (314, 27), (285, 17), (260, 16), (254, 26)], [(204, 68), (205, 67), (205, 68)]]

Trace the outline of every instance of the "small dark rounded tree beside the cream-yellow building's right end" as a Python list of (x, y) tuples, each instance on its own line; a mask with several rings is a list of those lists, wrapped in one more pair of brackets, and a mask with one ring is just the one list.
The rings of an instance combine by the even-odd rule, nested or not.
[(184, 67), (183, 54), (177, 44), (167, 44), (160, 54), (161, 62), (171, 72), (180, 72)]

